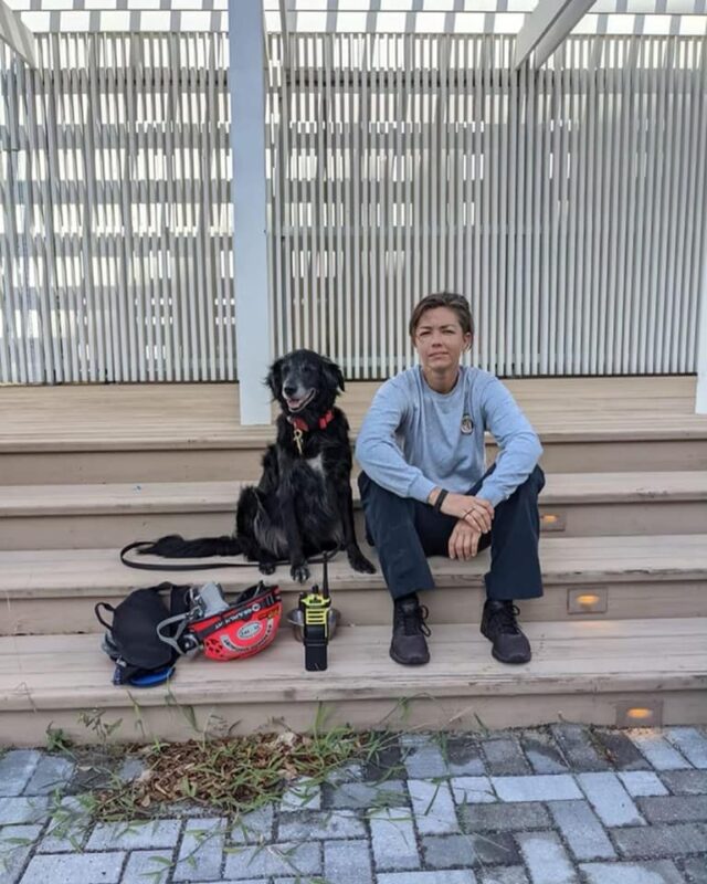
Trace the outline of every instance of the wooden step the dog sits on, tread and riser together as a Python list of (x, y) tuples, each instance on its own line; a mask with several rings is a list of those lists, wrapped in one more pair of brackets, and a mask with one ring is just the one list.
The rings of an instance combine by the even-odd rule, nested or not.
[[(374, 550), (365, 549), (376, 558)], [(639, 613), (644, 618), (707, 617), (705, 535), (546, 536), (540, 554), (545, 597), (520, 604), (524, 620), (631, 619)], [(431, 562), (439, 588), (425, 593), (431, 623), (478, 622), (489, 551), (468, 562), (445, 558)], [(320, 566), (312, 570), (313, 581), (320, 581)], [(117, 603), (130, 589), (162, 580), (180, 585), (217, 580), (231, 592), (258, 579), (252, 566), (186, 573), (137, 571), (122, 565), (115, 549), (2, 551), (0, 634), (97, 631), (101, 625), (93, 612), (97, 601)], [(286, 567), (279, 567), (268, 581), (282, 588), (286, 610), (296, 606), (302, 587), (293, 583)], [(330, 585), (344, 623), (390, 623), (390, 597), (380, 569), (374, 575), (356, 573), (340, 554), (330, 565)], [(578, 608), (577, 596), (597, 596), (603, 610)]]

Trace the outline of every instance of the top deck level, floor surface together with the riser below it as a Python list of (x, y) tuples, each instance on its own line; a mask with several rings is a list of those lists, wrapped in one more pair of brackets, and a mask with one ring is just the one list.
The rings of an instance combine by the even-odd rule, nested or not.
[[(542, 440), (548, 472), (707, 470), (695, 377), (506, 383)], [(347, 385), (340, 404), (352, 438), (378, 387)], [(0, 485), (249, 478), (274, 439), (273, 427), (240, 425), (231, 383), (0, 387)]]

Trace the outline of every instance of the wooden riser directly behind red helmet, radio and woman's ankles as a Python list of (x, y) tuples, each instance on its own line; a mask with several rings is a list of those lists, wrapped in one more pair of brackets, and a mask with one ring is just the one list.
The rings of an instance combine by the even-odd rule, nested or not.
[[(135, 572), (135, 586), (147, 587), (160, 582), (159, 573)], [(202, 577), (192, 576), (197, 581), (205, 582), (208, 572)], [(271, 579), (272, 582), (274, 580)], [(184, 577), (184, 583), (189, 577)], [(238, 585), (228, 587), (230, 591)], [(244, 587), (243, 587), (244, 588)], [(606, 610), (597, 613), (570, 613), (569, 598), (599, 590), (605, 593)], [(125, 593), (127, 594), (127, 593)], [(285, 612), (297, 606), (297, 592), (283, 593)], [(96, 592), (61, 598), (24, 598), (6, 599), (0, 618), (0, 635), (17, 634), (72, 634), (76, 632), (99, 633), (103, 627), (94, 614), (94, 606), (98, 601), (117, 604), (125, 596), (116, 592)], [(334, 607), (341, 613), (344, 625), (386, 625), (392, 622), (392, 604), (384, 590), (340, 590), (333, 588)], [(481, 622), (482, 607), (486, 598), (479, 586), (437, 587), (434, 592), (424, 593), (422, 600), (430, 609), (430, 624), (435, 623), (471, 623), (469, 629), (476, 632)], [(707, 617), (707, 580), (695, 581), (658, 581), (658, 582), (593, 582), (548, 585), (541, 599), (519, 602), (521, 621), (552, 620), (630, 620), (640, 618), (689, 618)], [(336, 636), (334, 639), (336, 643)]]

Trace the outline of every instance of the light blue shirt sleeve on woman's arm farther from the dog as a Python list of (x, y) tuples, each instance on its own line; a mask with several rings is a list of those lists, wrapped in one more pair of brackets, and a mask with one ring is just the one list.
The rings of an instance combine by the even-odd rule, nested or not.
[(510, 391), (492, 378), (482, 392), (484, 425), (498, 444), (496, 469), (484, 481), (478, 497), (497, 506), (508, 499), (535, 470), (542, 445)]

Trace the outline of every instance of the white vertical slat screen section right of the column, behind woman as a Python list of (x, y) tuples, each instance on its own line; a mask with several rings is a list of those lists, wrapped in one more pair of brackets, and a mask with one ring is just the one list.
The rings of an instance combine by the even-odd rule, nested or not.
[[(465, 294), (502, 376), (695, 371), (701, 38), (278, 36), (277, 347), (410, 365), (412, 305)], [(293, 183), (294, 182), (294, 183)]]

